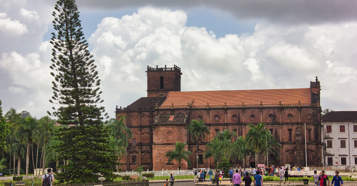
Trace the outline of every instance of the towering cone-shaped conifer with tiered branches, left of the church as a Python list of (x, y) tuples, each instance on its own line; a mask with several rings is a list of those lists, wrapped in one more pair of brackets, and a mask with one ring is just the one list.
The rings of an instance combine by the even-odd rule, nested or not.
[(64, 125), (54, 140), (55, 152), (59, 152), (68, 165), (60, 165), (61, 173), (56, 175), (59, 183), (96, 182), (101, 176), (108, 181), (117, 177), (117, 156), (112, 155), (109, 134), (103, 128), (102, 119), (109, 118), (103, 106), (97, 107), (100, 99), (100, 79), (95, 70), (93, 56), (88, 51), (75, 0), (56, 2), (53, 25), (57, 35), (52, 33), (50, 43), (54, 45), (51, 69), (57, 71), (52, 81), (54, 96), (51, 103), (62, 105), (52, 107), (47, 113), (58, 117)]

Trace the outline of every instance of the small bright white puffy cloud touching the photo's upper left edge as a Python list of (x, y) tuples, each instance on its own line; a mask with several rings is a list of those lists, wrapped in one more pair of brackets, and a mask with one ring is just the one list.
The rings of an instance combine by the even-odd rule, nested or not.
[(9, 37), (21, 36), (29, 32), (26, 25), (20, 23), (19, 20), (11, 21), (9, 17), (0, 19), (0, 31)]

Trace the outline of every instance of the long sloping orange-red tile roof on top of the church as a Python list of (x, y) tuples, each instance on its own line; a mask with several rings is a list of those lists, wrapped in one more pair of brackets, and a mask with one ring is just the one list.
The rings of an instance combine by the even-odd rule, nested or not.
[[(191, 101), (193, 100), (193, 101)], [(220, 91), (189, 91), (189, 92), (169, 92), (167, 99), (161, 106), (187, 105), (192, 102), (192, 106), (210, 105), (258, 105), (263, 104), (296, 104), (310, 103), (310, 88), (304, 89), (268, 89), (268, 90), (220, 90)]]

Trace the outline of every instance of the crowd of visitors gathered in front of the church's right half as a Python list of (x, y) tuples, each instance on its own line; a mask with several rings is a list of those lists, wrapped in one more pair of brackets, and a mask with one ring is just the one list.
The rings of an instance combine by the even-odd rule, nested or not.
[[(303, 170), (301, 167), (277, 167), (275, 168), (274, 166), (271, 167), (259, 167), (259, 168), (249, 168), (249, 169), (236, 169), (233, 170), (232, 167), (228, 170), (228, 175), (230, 177), (230, 181), (232, 183), (232, 186), (241, 186), (242, 181), (245, 182), (245, 186), (251, 186), (252, 182), (254, 186), (262, 186), (263, 185), (263, 177), (262, 175), (265, 176), (278, 176), (280, 183), (283, 182), (283, 184), (290, 184), (289, 181), (289, 170)], [(219, 186), (220, 183), (222, 183), (222, 178), (224, 177), (225, 172), (223, 169), (219, 170), (217, 169), (215, 173), (211, 169), (208, 169), (208, 172), (206, 169), (198, 169), (198, 170), (193, 170), (193, 173), (195, 174), (195, 179), (193, 182), (204, 182), (206, 181), (206, 176), (209, 176), (210, 179), (208, 181), (211, 181), (214, 179), (216, 181), (216, 185)], [(335, 172), (335, 176), (333, 177), (331, 181), (331, 186), (334, 184), (334, 186), (343, 186), (343, 181), (341, 179), (341, 176), (338, 176), (339, 172)], [(253, 177), (253, 180), (252, 180)], [(320, 174), (317, 174), (317, 171), (314, 171), (313, 178), (315, 181), (315, 186), (330, 186), (330, 181), (328, 180), (327, 175), (325, 175), (325, 171), (321, 171)], [(341, 183), (341, 184), (340, 184)]]

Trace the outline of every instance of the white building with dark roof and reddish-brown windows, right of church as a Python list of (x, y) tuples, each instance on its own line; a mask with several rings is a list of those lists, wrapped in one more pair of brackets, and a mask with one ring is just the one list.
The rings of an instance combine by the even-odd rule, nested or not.
[(323, 166), (357, 166), (357, 111), (332, 111), (321, 117)]

